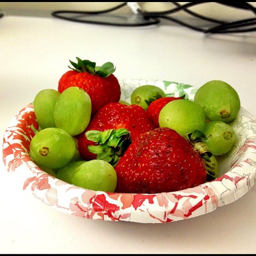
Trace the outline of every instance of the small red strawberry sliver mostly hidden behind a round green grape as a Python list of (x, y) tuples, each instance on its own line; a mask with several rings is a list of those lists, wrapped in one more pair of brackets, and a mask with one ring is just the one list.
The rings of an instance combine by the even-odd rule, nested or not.
[[(185, 96), (185, 95), (184, 95)], [(175, 99), (184, 99), (184, 96), (182, 97), (162, 97), (159, 99), (155, 99), (152, 101), (146, 110), (148, 114), (148, 118), (151, 120), (151, 122), (155, 125), (155, 127), (159, 127), (158, 117), (161, 109), (169, 102), (175, 100)]]

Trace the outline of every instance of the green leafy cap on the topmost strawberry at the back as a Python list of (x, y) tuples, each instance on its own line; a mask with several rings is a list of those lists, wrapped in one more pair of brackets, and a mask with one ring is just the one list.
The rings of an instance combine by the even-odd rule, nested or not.
[(115, 70), (113, 63), (106, 62), (102, 66), (97, 66), (96, 63), (89, 61), (89, 60), (81, 60), (80, 58), (76, 57), (77, 63), (70, 61), (73, 67), (68, 66), (70, 69), (76, 72), (86, 72), (92, 75), (100, 76), (102, 78), (110, 76)]

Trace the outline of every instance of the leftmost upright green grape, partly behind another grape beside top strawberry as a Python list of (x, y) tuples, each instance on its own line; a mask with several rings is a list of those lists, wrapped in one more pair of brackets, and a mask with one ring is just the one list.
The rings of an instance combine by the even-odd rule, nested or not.
[(34, 99), (34, 111), (38, 125), (44, 129), (48, 127), (56, 127), (53, 111), (55, 103), (60, 93), (54, 89), (41, 90)]

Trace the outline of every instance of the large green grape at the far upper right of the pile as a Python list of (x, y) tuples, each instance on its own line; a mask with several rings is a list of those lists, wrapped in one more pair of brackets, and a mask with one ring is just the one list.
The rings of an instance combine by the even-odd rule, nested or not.
[(212, 80), (199, 87), (194, 101), (210, 121), (231, 122), (239, 113), (240, 99), (236, 90), (224, 81)]

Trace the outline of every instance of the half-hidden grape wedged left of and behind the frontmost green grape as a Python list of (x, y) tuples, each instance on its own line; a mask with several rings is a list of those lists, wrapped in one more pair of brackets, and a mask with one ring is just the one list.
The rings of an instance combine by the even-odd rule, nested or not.
[(55, 177), (59, 180), (64, 180), (67, 183), (72, 183), (72, 178), (74, 173), (76, 172), (76, 169), (85, 162), (86, 161), (84, 160), (70, 162), (59, 169), (54, 169), (53, 171), (56, 173)]

